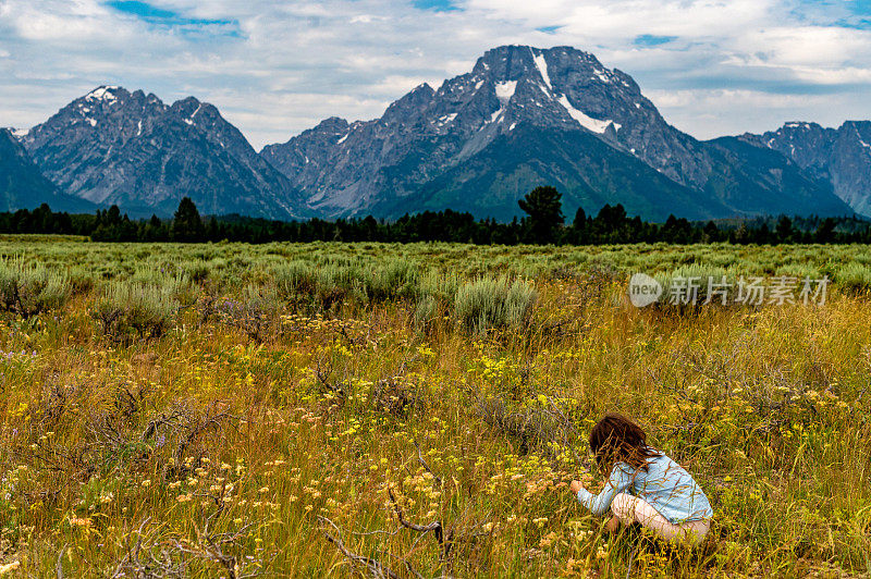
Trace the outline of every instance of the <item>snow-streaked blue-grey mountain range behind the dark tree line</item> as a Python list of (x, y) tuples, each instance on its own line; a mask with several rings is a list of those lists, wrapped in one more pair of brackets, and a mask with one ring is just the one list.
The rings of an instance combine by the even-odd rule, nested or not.
[[(168, 214), (189, 196), (212, 214), (451, 208), (510, 220), (538, 185), (563, 192), (567, 215), (616, 202), (654, 221), (871, 214), (871, 122), (699, 140), (670, 125), (628, 74), (571, 47), (489, 50), (470, 72), (416, 87), (379, 119), (330, 118), (259, 153), (211, 104), (170, 106), (112, 86), (5, 134), (23, 146), (19, 164), (38, 169), (53, 195), (131, 214)], [(0, 156), (2, 184), (7, 149)], [(49, 193), (45, 180), (33, 183), (26, 195), (0, 189), (0, 207), (38, 205)]]

